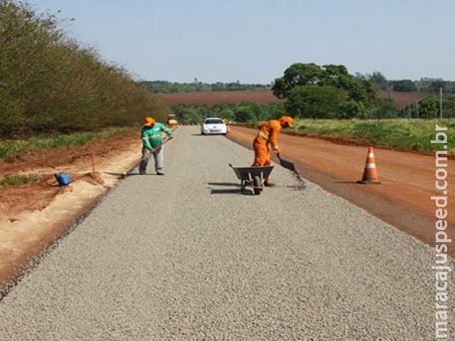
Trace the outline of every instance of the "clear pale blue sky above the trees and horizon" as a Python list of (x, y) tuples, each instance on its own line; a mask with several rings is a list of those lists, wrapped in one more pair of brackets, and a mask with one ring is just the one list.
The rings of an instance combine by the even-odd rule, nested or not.
[(293, 63), (455, 80), (454, 0), (26, 2), (136, 80), (270, 84)]

